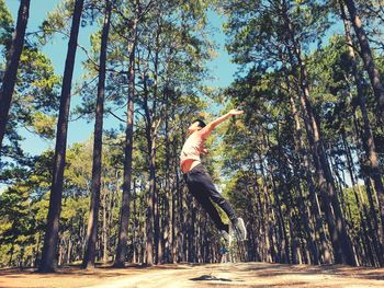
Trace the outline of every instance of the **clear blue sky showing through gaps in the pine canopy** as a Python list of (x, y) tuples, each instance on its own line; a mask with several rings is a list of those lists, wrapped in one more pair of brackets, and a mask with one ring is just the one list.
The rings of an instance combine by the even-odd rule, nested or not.
[[(27, 25), (27, 32), (34, 32), (38, 30), (38, 26), (46, 18), (47, 13), (56, 7), (59, 0), (33, 0), (31, 1), (30, 20)], [(14, 21), (18, 16), (18, 10), (20, 2), (16, 0), (5, 0), (8, 8), (10, 9)], [(217, 43), (218, 56), (208, 64), (208, 68), (212, 71), (212, 76), (215, 80), (210, 80), (206, 82), (211, 87), (226, 87), (233, 79), (236, 72), (236, 66), (230, 64), (230, 57), (224, 49), (225, 35), (222, 32), (223, 18), (210, 12), (208, 21), (215, 33), (212, 34), (212, 39)], [(80, 28), (79, 44), (83, 47), (89, 47), (90, 45), (90, 34), (92, 33), (92, 27)], [(55, 67), (56, 73), (63, 76), (65, 57), (67, 53), (67, 39), (57, 35), (52, 43), (43, 48), (44, 54), (46, 54)], [(86, 59), (86, 54), (78, 49), (76, 57), (76, 65), (74, 71), (74, 83), (80, 81), (81, 74), (86, 71), (82, 69), (81, 62)], [(72, 85), (74, 87), (74, 85)], [(74, 108), (80, 99), (74, 96), (71, 100), (71, 108)], [(117, 128), (118, 123), (112, 120), (105, 120), (105, 128)], [(84, 119), (79, 119), (77, 122), (69, 123), (68, 128), (68, 146), (74, 142), (87, 140), (93, 131), (93, 122), (87, 123)], [(54, 147), (54, 141), (45, 141), (41, 138), (29, 133), (26, 129), (21, 130), (21, 134), (25, 138), (22, 148), (31, 154), (39, 154), (43, 150), (48, 147)]]

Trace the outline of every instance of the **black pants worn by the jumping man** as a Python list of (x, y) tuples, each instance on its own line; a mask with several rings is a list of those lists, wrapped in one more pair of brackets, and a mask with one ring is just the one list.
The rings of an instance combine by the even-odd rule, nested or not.
[(223, 222), (212, 201), (216, 203), (227, 214), (230, 221), (236, 219), (235, 211), (229, 203), (218, 193), (204, 166), (202, 164), (196, 165), (184, 174), (184, 180), (190, 193), (211, 216), (217, 229), (228, 232), (228, 226)]

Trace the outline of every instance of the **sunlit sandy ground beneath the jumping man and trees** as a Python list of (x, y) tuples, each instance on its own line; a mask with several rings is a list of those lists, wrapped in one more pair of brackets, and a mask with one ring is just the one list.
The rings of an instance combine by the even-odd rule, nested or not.
[(169, 264), (56, 274), (0, 269), (0, 287), (384, 287), (384, 268), (267, 263)]

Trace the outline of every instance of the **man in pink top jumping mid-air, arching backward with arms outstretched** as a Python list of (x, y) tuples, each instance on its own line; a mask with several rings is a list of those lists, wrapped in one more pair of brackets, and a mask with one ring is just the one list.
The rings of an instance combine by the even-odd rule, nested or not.
[[(233, 231), (240, 240), (246, 240), (247, 230), (244, 220), (236, 216), (230, 204), (216, 189), (210, 174), (201, 163), (200, 154), (207, 153), (207, 150), (204, 148), (204, 142), (218, 124), (231, 116), (241, 115), (242, 113), (242, 111), (231, 110), (208, 125), (205, 125), (201, 119), (194, 120), (188, 128), (189, 137), (180, 155), (180, 166), (184, 173), (184, 180), (190, 193), (203, 206), (217, 229), (221, 231), (222, 237), (227, 241), (229, 241)], [(216, 203), (218, 207), (227, 214), (230, 220), (230, 227), (223, 222), (218, 211), (211, 200)]]

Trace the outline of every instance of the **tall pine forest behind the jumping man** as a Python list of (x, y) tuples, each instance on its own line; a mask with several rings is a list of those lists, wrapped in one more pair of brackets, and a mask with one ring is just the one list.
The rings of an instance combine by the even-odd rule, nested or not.
[[(0, 267), (219, 263), (179, 157), (192, 119), (231, 108), (245, 114), (217, 128), (203, 162), (246, 222), (246, 261), (384, 266), (383, 1), (58, 0), (38, 31), (27, 30), (36, 1), (20, 0), (16, 19), (8, 2)], [(225, 20), (238, 67), (219, 89), (208, 13)], [(43, 53), (55, 37), (63, 74)], [(68, 145), (78, 119), (92, 130)], [(32, 155), (24, 128), (53, 148)]]

